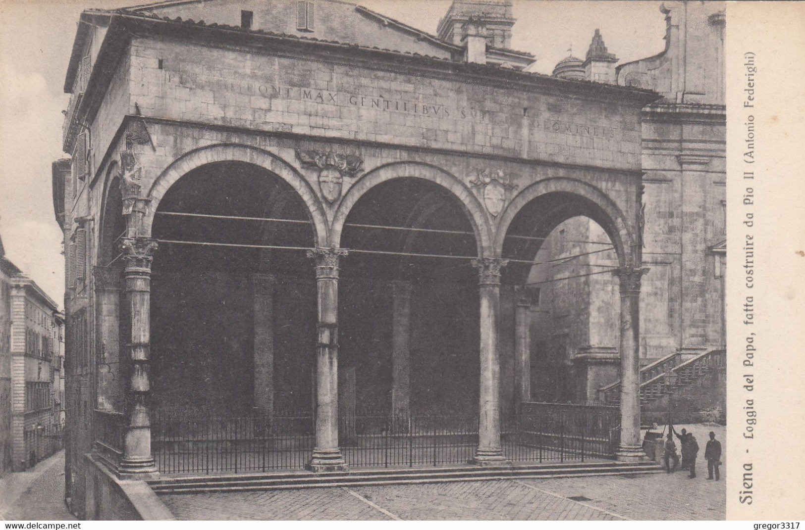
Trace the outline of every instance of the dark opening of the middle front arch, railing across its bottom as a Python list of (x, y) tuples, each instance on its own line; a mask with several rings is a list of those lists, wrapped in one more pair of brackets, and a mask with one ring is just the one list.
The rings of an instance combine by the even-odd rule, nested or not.
[(350, 465), (472, 458), (477, 246), (460, 199), (430, 180), (386, 180), (349, 210), (341, 232), (349, 256), (341, 269), (339, 384)]

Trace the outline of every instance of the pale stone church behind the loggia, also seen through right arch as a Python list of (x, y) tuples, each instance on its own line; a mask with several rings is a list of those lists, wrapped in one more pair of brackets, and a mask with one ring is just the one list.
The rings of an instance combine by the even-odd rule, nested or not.
[[(643, 264), (640, 362), (667, 366), (725, 348), (726, 195), (723, 2), (664, 2), (666, 48), (616, 66), (594, 35), (585, 60), (553, 75), (650, 88), (663, 96), (642, 112)], [(594, 72), (591, 58), (599, 58)], [(568, 259), (568, 257), (571, 257)], [(576, 218), (555, 229), (532, 272), (543, 306), (535, 327), (535, 388), (544, 401), (605, 401), (618, 379), (617, 281), (605, 232)], [(565, 279), (567, 278), (567, 279)], [(665, 360), (663, 360), (665, 359)], [(715, 383), (722, 387), (723, 378)], [(698, 409), (724, 407), (719, 398)], [(691, 404), (691, 406), (694, 406)]]

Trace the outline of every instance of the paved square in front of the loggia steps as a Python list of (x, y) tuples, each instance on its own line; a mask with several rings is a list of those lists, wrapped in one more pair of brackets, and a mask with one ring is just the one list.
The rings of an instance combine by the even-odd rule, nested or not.
[[(706, 476), (706, 472), (705, 472)], [(166, 495), (178, 519), (718, 520), (720, 482), (687, 473)], [(586, 499), (568, 499), (584, 497)]]

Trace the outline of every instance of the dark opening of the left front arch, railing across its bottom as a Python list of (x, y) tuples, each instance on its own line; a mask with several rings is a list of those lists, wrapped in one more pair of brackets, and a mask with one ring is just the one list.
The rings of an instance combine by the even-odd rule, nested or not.
[[(316, 365), (316, 280), (306, 256), (315, 236), (305, 203), (263, 167), (212, 162), (167, 189), (151, 236), (159, 242), (151, 286), (158, 465), (302, 466), (312, 451)], [(191, 440), (203, 454), (184, 449)]]

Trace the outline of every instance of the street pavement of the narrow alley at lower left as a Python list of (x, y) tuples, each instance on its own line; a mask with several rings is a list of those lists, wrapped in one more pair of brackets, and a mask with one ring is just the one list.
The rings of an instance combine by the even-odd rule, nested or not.
[(75, 520), (64, 505), (64, 450), (0, 479), (3, 520)]

